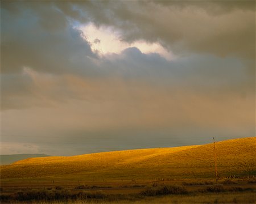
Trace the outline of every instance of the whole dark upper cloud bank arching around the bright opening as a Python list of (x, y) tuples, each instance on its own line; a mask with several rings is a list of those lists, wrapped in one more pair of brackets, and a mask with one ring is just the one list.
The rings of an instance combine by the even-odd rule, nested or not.
[[(89, 71), (96, 57), (75, 21), (113, 26), (123, 40), (159, 41), (173, 52), (255, 57), (253, 1), (2, 2), (2, 72)], [(143, 8), (143, 9), (142, 9)], [(213, 15), (213, 11), (219, 15)], [(85, 57), (84, 57), (85, 56)], [(250, 70), (253, 62), (247, 63)], [(86, 67), (84, 65), (86, 64)], [(72, 68), (71, 68), (72, 67)], [(252, 74), (252, 73), (251, 73)]]

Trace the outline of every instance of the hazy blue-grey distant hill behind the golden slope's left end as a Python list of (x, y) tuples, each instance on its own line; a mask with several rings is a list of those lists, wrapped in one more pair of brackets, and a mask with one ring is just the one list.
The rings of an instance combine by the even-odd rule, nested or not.
[(39, 157), (46, 157), (49, 155), (46, 154), (14, 154), (14, 155), (0, 155), (0, 164), (6, 165), (17, 162), (22, 159), (27, 158), (39, 158)]

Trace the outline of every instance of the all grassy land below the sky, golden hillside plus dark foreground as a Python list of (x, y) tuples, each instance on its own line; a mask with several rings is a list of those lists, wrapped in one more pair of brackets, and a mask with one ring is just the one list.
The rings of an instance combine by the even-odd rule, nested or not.
[(216, 153), (217, 183), (212, 143), (20, 160), (1, 166), (1, 202), (255, 203), (256, 138)]

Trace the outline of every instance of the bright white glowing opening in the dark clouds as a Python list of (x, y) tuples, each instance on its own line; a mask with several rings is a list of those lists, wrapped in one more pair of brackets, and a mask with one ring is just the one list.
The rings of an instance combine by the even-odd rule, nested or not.
[(90, 43), (93, 52), (100, 54), (100, 56), (111, 53), (119, 54), (126, 48), (136, 47), (144, 54), (158, 53), (168, 60), (175, 58), (174, 54), (158, 42), (150, 43), (140, 40), (129, 44), (122, 41), (121, 34), (111, 27), (96, 27), (89, 23), (79, 27), (79, 29), (83, 32), (84, 39)]

